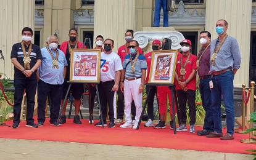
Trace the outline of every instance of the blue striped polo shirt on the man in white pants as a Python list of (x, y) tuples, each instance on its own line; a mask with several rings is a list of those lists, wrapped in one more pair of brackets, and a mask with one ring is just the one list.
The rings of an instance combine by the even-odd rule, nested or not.
[[(135, 56), (136, 54), (133, 55), (132, 58), (134, 58)], [(147, 62), (144, 55), (139, 55), (138, 60), (134, 65), (134, 73), (131, 72), (131, 63), (129, 63), (126, 66), (128, 62), (130, 62), (130, 54), (126, 55), (125, 60), (123, 60), (123, 69), (125, 69), (125, 78), (139, 78), (142, 76), (141, 70), (147, 70)]]

